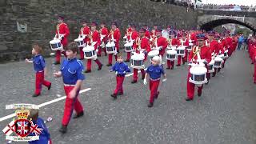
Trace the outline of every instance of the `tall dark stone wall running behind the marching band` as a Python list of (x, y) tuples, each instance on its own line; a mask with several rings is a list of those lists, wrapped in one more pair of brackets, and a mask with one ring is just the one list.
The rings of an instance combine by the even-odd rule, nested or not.
[[(149, 0), (0, 0), (0, 62), (26, 58), (34, 42), (42, 43), (49, 54), (58, 14), (66, 17), (70, 42), (78, 37), (82, 18), (108, 25), (116, 21), (123, 32), (128, 23), (188, 29), (197, 26), (198, 15), (193, 10), (187, 13), (185, 7)], [(23, 32), (18, 32), (20, 24), (25, 26)]]

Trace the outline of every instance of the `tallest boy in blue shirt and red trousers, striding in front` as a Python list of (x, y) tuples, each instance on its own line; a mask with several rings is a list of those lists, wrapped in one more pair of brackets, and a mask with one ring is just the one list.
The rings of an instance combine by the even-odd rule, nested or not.
[(73, 110), (76, 112), (73, 118), (83, 116), (83, 107), (78, 99), (78, 94), (82, 86), (82, 81), (85, 79), (83, 75), (84, 66), (82, 61), (76, 58), (78, 53), (78, 45), (76, 42), (71, 42), (66, 49), (66, 59), (62, 62), (61, 70), (54, 73), (54, 77), (63, 78), (64, 90), (66, 93), (66, 102), (64, 114), (62, 118), (62, 127), (60, 132), (66, 133), (67, 126), (70, 122)]

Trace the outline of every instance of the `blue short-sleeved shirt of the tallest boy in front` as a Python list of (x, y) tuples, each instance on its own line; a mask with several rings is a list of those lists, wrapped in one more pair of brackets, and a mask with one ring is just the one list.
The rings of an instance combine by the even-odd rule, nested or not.
[(83, 70), (84, 66), (77, 58), (64, 59), (61, 66), (63, 82), (68, 85), (75, 85), (78, 80), (84, 80)]

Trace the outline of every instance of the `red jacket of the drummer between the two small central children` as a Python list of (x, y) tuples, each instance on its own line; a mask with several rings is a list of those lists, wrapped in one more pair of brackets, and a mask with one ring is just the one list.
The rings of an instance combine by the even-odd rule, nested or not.
[(134, 46), (134, 50), (136, 53), (140, 53), (140, 50), (138, 49), (138, 45), (140, 45), (141, 49), (146, 50), (146, 52), (150, 52), (150, 41), (149, 38), (146, 38), (145, 36), (140, 38), (138, 37), (135, 41), (135, 46)]

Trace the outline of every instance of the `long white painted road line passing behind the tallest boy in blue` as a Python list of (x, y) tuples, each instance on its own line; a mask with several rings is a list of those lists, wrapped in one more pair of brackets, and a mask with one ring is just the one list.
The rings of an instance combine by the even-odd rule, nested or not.
[[(79, 94), (82, 94), (82, 93), (84, 93), (84, 92), (86, 92), (86, 91), (89, 91), (89, 90), (91, 90), (91, 88), (87, 88), (87, 89), (84, 89), (84, 90), (80, 90)], [(65, 96), (62, 96), (61, 98), (56, 98), (56, 99), (54, 99), (54, 100), (51, 100), (51, 101), (49, 101), (49, 102), (44, 102), (44, 103), (42, 103), (42, 104), (40, 104), (40, 105), (38, 105), (38, 106), (39, 106), (39, 108), (40, 108), (40, 107), (42, 107), (42, 106), (47, 106), (47, 105), (50, 105), (50, 104), (52, 104), (52, 103), (54, 103), (54, 102), (61, 101), (61, 100), (63, 100), (63, 99), (66, 99), (66, 95), (65, 95)], [(0, 122), (4, 121), (4, 120), (6, 120), (6, 119), (9, 119), (9, 118), (13, 118), (13, 117), (15, 117), (15, 116), (16, 116), (15, 113), (14, 113), (14, 114), (6, 115), (5, 117), (0, 118)]]

